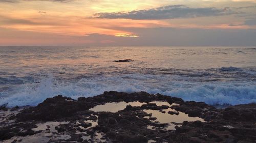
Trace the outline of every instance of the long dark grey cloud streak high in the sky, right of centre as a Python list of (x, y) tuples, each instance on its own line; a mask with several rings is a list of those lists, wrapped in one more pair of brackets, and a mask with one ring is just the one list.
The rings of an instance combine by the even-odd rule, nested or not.
[(185, 5), (169, 5), (149, 10), (138, 10), (131, 12), (112, 12), (96, 13), (93, 18), (108, 19), (175, 19), (175, 18), (194, 18), (203, 16), (220, 16), (233, 14), (229, 8), (190, 8)]

